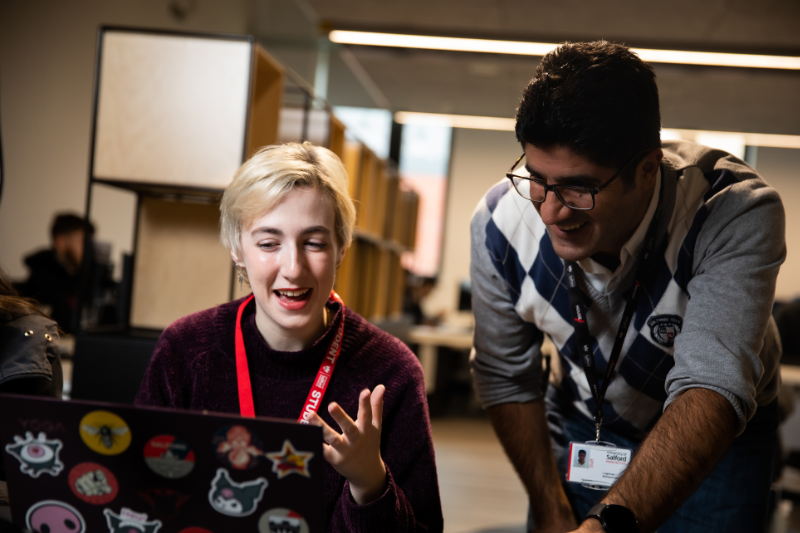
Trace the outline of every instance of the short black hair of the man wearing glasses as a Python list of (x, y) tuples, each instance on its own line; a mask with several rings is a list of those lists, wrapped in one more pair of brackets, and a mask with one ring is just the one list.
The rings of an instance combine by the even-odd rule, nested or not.
[[(563, 146), (620, 168), (661, 147), (655, 72), (619, 44), (564, 43), (544, 56), (522, 93), (515, 130), (523, 147)], [(626, 182), (635, 166), (628, 169)]]

